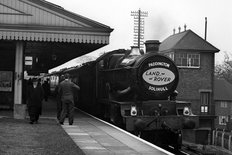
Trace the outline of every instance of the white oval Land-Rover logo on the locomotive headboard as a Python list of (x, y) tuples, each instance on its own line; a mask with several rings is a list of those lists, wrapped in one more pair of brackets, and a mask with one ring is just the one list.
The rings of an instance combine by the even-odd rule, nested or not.
[(175, 74), (166, 68), (151, 68), (142, 75), (143, 80), (154, 86), (163, 86), (175, 80)]

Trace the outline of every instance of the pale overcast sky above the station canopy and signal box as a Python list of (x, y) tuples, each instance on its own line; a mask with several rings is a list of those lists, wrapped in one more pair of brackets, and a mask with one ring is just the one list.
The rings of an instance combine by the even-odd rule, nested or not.
[[(232, 53), (232, 1), (231, 0), (47, 0), (65, 10), (113, 28), (109, 45), (90, 53), (116, 49), (130, 49), (133, 46), (134, 18), (131, 11), (148, 12), (144, 23), (144, 41), (164, 39), (178, 32), (191, 29), (205, 37), (207, 17), (207, 41), (220, 50), (215, 63), (224, 60), (224, 53)], [(63, 66), (75, 65), (72, 61)]]

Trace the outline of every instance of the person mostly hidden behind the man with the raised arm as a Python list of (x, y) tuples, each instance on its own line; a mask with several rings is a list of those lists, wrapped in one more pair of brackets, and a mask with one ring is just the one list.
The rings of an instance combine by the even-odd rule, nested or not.
[(55, 88), (55, 95), (56, 95), (56, 108), (57, 108), (57, 120), (59, 121), (60, 120), (60, 114), (61, 114), (61, 111), (62, 111), (62, 101), (61, 101), (61, 94), (58, 92), (58, 89), (59, 89), (59, 86), (60, 86), (60, 83), (64, 80), (64, 75), (61, 75), (60, 76), (60, 79), (59, 79), (59, 84), (56, 86)]

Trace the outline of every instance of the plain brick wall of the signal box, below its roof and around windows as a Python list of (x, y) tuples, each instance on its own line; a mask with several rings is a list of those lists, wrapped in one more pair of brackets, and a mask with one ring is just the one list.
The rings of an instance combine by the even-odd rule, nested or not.
[[(194, 114), (200, 114), (200, 90), (213, 91), (214, 53), (200, 54), (200, 68), (179, 68), (177, 99), (192, 102)], [(211, 100), (213, 93), (211, 93)], [(213, 104), (213, 100), (211, 101)], [(211, 109), (211, 107), (209, 107)]]

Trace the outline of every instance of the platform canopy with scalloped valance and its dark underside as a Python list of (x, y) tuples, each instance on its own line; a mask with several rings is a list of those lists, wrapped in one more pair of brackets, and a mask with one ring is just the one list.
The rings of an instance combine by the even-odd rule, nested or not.
[(34, 72), (46, 72), (109, 44), (112, 31), (45, 0), (0, 0), (0, 46), (23, 41)]

